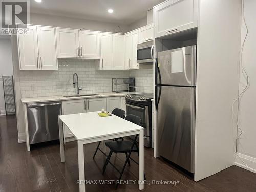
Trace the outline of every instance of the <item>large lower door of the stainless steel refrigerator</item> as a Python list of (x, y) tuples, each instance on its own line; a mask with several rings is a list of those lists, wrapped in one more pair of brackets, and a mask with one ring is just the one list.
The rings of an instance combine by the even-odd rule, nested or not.
[(194, 87), (161, 87), (158, 104), (159, 155), (194, 173)]

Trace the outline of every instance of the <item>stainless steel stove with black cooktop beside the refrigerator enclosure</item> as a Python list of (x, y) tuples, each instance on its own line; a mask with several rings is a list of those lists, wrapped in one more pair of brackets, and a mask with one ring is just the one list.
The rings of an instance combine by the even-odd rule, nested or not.
[(144, 127), (144, 146), (152, 147), (152, 103), (153, 93), (126, 95), (126, 113), (141, 118)]

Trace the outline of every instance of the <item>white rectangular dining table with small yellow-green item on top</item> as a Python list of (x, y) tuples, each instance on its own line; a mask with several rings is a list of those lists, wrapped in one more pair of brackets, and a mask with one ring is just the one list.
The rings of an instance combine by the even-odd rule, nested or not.
[(144, 189), (144, 144), (143, 127), (130, 121), (112, 115), (109, 117), (99, 117), (100, 112), (78, 113), (58, 116), (60, 159), (65, 162), (64, 151), (64, 131), (63, 124), (73, 133), (77, 139), (78, 148), (78, 169), (79, 169), (79, 191), (86, 191), (84, 173), (84, 151), (83, 145), (93, 142), (105, 141), (109, 139), (139, 135), (139, 190)]

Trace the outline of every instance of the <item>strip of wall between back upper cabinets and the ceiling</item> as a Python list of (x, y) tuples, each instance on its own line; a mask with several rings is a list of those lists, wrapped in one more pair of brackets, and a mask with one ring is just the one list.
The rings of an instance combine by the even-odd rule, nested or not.
[[(129, 30), (127, 25), (115, 24), (109, 22), (99, 22), (95, 20), (86, 20), (54, 15), (45, 14), (30, 14), (30, 24), (34, 25), (46, 25), (73, 29), (88, 29), (95, 31), (105, 32), (127, 32)], [(120, 26), (121, 30), (118, 28)]]

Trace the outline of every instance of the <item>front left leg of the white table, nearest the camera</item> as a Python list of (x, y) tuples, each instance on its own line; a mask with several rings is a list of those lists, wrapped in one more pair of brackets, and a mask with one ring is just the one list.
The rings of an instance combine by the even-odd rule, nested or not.
[(84, 152), (83, 152), (83, 142), (77, 141), (78, 147), (78, 171), (79, 171), (79, 191), (85, 192), (86, 191), (86, 184), (85, 184), (85, 176), (84, 176)]

